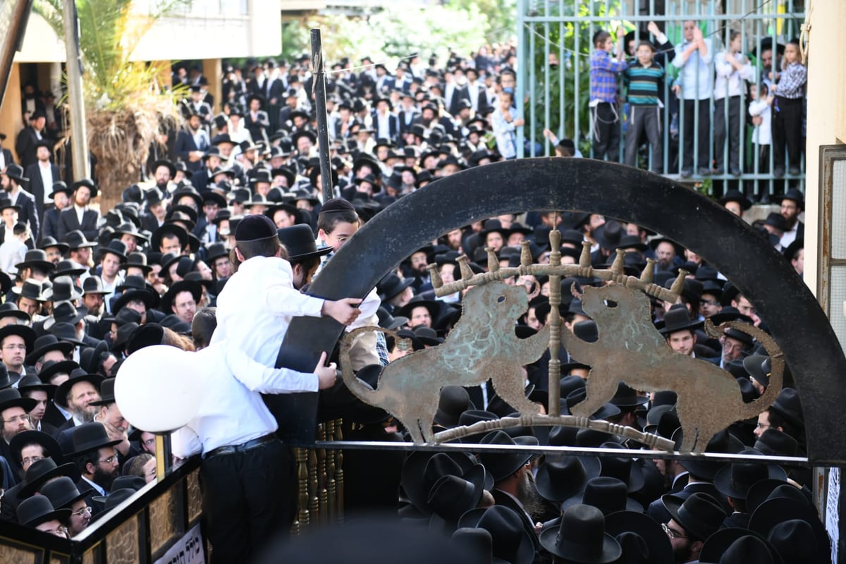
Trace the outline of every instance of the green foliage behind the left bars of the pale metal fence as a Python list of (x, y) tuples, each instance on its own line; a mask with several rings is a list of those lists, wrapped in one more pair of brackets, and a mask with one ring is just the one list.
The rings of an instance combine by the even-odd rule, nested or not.
[[(541, 4), (540, 8), (531, 15), (608, 18), (606, 25), (581, 25), (573, 22), (536, 23), (527, 24), (524, 30), (526, 49), (533, 49), (531, 64), (535, 70), (534, 82), (526, 84), (526, 136), (528, 137), (531, 132), (534, 140), (542, 144), (544, 142), (542, 131), (547, 127), (556, 135), (563, 135), (573, 140), (584, 139), (590, 134), (591, 124), (588, 107), (591, 94), (591, 52), (593, 51), (591, 39), (598, 30), (605, 29), (613, 34), (619, 25), (623, 25), (622, 21), (614, 17), (619, 12), (619, 2), (612, 0), (606, 7), (605, 3), (580, 0), (578, 3), (572, 1), (563, 3), (563, 11), (559, 9), (561, 7), (558, 3), (549, 3), (546, 10), (543, 8)], [(550, 53), (548, 58), (547, 43)], [(549, 92), (548, 106), (547, 91)], [(530, 93), (532, 98), (528, 96)], [(534, 128), (531, 123), (533, 108), (528, 106), (530, 99), (535, 100)], [(547, 111), (549, 123), (545, 124)], [(578, 131), (576, 130), (577, 117)]]

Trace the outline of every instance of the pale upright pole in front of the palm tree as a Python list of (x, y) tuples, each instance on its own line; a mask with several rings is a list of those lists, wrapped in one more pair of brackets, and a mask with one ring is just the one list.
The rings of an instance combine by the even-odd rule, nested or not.
[(74, 181), (91, 177), (88, 162), (88, 137), (85, 134), (85, 100), (82, 96), (82, 57), (80, 28), (74, 0), (63, 0), (64, 47), (68, 53), (68, 104), (70, 107), (71, 153), (74, 158)]

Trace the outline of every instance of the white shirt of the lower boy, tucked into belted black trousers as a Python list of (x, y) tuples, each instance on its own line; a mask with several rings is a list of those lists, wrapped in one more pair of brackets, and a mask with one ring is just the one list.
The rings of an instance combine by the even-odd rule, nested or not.
[(204, 386), (197, 391), (202, 399), (194, 418), (171, 435), (173, 454), (180, 458), (276, 431), (261, 393), (317, 392), (316, 375), (262, 366), (234, 343), (219, 341), (193, 354)]

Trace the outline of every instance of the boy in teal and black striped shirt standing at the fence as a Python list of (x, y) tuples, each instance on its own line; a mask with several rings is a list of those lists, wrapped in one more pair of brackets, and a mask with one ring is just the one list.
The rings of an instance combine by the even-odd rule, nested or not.
[(661, 109), (658, 89), (664, 79), (664, 69), (652, 60), (655, 46), (649, 41), (640, 41), (634, 53), (637, 60), (625, 70), (625, 81), (629, 85), (629, 129), (626, 131), (625, 163), (637, 166), (637, 153), (643, 134), (652, 146), (652, 172), (661, 173), (664, 164), (661, 143)]

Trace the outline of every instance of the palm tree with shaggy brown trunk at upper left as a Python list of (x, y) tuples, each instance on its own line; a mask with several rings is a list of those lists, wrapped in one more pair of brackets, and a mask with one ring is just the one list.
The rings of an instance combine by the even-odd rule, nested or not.
[[(149, 14), (138, 14), (131, 10), (132, 0), (76, 0), (85, 126), (89, 150), (97, 159), (104, 209), (140, 179), (160, 124), (178, 118), (174, 101), (182, 92), (167, 90), (161, 82), (170, 73), (170, 63), (135, 62), (131, 57), (158, 18), (189, 2), (153, 0)], [(35, 9), (62, 37), (62, 0), (36, 0)]]

